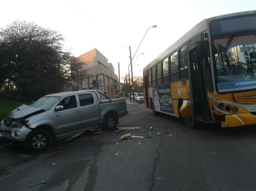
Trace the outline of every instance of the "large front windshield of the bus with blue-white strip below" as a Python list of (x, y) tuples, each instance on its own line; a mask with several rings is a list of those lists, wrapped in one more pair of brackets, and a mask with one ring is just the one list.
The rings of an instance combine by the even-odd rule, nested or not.
[(212, 44), (218, 91), (256, 88), (256, 36), (230, 35)]

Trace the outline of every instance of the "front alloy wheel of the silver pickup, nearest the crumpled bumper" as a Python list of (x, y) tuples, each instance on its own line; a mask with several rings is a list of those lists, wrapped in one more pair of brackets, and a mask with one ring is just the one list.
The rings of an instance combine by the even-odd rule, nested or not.
[(45, 130), (36, 130), (29, 134), (27, 146), (32, 151), (46, 150), (51, 144), (51, 136)]

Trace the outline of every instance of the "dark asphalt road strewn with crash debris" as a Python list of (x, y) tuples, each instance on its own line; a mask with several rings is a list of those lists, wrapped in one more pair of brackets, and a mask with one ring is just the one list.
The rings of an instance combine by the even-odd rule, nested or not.
[[(256, 127), (191, 130), (129, 102), (118, 132), (57, 140), (43, 153), (0, 148), (0, 190), (256, 190)], [(126, 133), (144, 138), (120, 141)]]

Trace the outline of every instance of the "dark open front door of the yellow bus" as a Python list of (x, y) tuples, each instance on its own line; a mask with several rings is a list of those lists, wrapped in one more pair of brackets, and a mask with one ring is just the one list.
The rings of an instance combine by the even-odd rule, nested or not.
[(211, 121), (207, 92), (204, 78), (203, 59), (197, 59), (196, 48), (189, 51), (189, 64), (191, 72), (192, 112), (199, 121)]

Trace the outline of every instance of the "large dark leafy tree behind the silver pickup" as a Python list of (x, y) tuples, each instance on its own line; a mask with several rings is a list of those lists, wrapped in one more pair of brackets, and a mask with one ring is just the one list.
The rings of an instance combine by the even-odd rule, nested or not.
[(74, 60), (62, 49), (63, 41), (59, 32), (34, 22), (14, 21), (1, 28), (0, 83), (12, 82), (7, 90), (26, 100), (61, 91), (71, 80), (70, 62)]

